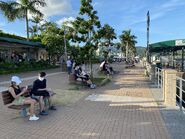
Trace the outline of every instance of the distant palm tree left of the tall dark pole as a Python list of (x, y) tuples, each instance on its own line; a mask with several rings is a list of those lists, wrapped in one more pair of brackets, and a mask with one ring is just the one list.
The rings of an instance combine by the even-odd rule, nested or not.
[(131, 34), (131, 30), (125, 30), (120, 35), (120, 40), (123, 45), (126, 46), (126, 61), (128, 61), (128, 55), (135, 52), (136, 36)]

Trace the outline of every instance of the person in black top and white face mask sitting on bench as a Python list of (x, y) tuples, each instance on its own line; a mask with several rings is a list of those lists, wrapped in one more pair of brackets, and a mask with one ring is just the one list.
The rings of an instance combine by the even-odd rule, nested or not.
[(45, 111), (44, 107), (44, 101), (43, 99), (45, 97), (48, 97), (49, 100), (49, 110), (56, 110), (56, 108), (51, 105), (52, 100), (52, 90), (49, 88), (46, 88), (46, 79), (45, 79), (46, 73), (40, 72), (38, 75), (38, 79), (33, 82), (33, 88), (31, 91), (31, 94), (34, 96), (39, 96), (39, 102), (40, 102), (40, 115), (48, 115), (48, 113)]

